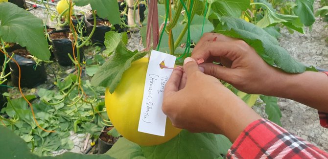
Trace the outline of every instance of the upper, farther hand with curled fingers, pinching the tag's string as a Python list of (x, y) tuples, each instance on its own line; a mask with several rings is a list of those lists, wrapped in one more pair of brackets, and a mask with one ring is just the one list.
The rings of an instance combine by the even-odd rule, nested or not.
[[(213, 39), (216, 37), (216, 41)], [(206, 33), (192, 51), (193, 59), (204, 59), (204, 73), (251, 94), (275, 95), (284, 78), (278, 68), (269, 66), (254, 48), (242, 40), (222, 34)], [(220, 62), (223, 66), (213, 64)]]

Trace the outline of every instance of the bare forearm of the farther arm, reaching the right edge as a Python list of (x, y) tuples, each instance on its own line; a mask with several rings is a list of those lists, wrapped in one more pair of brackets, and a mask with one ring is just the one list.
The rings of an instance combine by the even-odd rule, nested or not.
[(280, 73), (265, 95), (292, 99), (328, 113), (328, 76), (322, 72)]

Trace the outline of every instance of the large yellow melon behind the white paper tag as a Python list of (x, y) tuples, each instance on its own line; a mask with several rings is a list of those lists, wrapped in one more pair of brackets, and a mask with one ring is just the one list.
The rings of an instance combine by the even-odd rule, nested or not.
[(165, 136), (138, 132), (147, 67), (148, 58), (133, 62), (123, 73), (116, 90), (111, 94), (107, 89), (105, 93), (107, 114), (118, 133), (144, 146), (164, 143), (181, 131), (172, 125), (169, 118), (166, 118)]

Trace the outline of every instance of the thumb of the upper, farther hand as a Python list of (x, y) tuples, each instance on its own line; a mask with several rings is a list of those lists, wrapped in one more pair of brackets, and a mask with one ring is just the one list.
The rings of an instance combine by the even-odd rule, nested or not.
[(211, 75), (228, 83), (234, 82), (234, 74), (236, 71), (232, 68), (226, 68), (212, 63), (204, 63), (201, 64), (200, 67), (204, 68), (205, 74)]

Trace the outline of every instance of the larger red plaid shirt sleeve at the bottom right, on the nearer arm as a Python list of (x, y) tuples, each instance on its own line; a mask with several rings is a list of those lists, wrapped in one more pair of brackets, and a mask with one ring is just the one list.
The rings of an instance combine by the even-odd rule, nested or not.
[(328, 154), (275, 123), (259, 119), (234, 141), (228, 159), (328, 159)]

